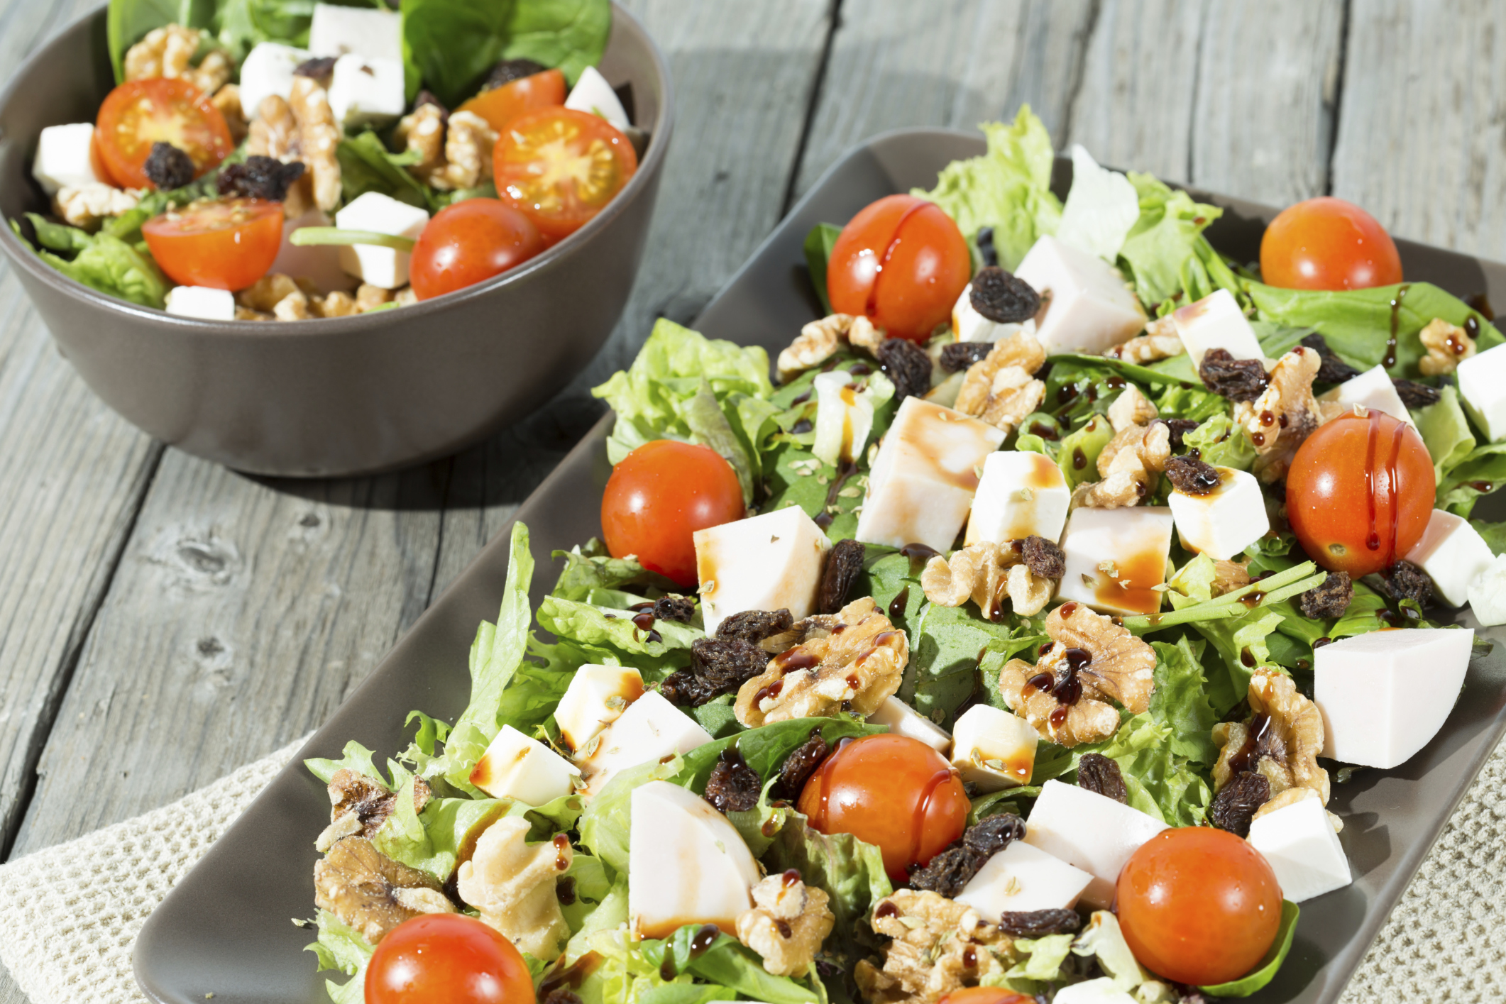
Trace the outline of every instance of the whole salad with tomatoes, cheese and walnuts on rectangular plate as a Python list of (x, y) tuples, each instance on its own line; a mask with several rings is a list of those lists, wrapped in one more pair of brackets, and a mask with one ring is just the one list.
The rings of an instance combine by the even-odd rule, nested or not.
[(514, 525), (464, 713), (307, 762), (333, 999), (1247, 996), (1352, 881), (1333, 786), (1506, 623), (1488, 306), (1348, 203), (1230, 262), (983, 131), (812, 230), (773, 367), (660, 321), (595, 390), (601, 536), (532, 610)]

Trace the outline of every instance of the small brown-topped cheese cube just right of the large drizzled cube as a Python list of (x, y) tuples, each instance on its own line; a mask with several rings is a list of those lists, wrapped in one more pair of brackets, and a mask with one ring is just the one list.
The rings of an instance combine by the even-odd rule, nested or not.
[(964, 543), (1062, 539), (1072, 489), (1062, 468), (1042, 453), (1000, 450), (983, 461)]

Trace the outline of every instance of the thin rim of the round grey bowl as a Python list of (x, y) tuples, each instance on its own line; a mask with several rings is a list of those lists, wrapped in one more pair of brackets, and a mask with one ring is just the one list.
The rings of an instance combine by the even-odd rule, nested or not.
[[(33, 51), (15, 71), (11, 80), (3, 89), (0, 89), (0, 108), (8, 107), (17, 93), (26, 84), (27, 77), (35, 71), (35, 68), (53, 57), (53, 50), (62, 42), (65, 36), (78, 30), (84, 23), (104, 18), (107, 8), (95, 8), (80, 17), (74, 18), (68, 26), (60, 29), (51, 39), (48, 39), (39, 50)], [(584, 247), (595, 235), (602, 232), (614, 218), (622, 215), (626, 208), (636, 202), (643, 190), (648, 188), (655, 176), (664, 166), (664, 157), (669, 151), (669, 141), (675, 131), (675, 81), (669, 69), (669, 62), (664, 59), (664, 53), (660, 50), (658, 42), (654, 36), (643, 27), (631, 12), (623, 9), (617, 0), (611, 0), (611, 17), (613, 30), (616, 30), (616, 21), (620, 18), (628, 24), (628, 29), (639, 35), (648, 47), (649, 59), (654, 65), (654, 74), (658, 77), (661, 84), (661, 102), (658, 123), (654, 132), (649, 135), (649, 146), (643, 160), (639, 161), (639, 167), (628, 184), (623, 187), (617, 196), (607, 203), (607, 206), (592, 217), (586, 224), (566, 236), (559, 244), (545, 248), (542, 253), (529, 259), (523, 265), (508, 269), (500, 275), (494, 275), (485, 281), (467, 286), (464, 289), (456, 289), (432, 300), (422, 300), (402, 307), (401, 316), (405, 319), (414, 319), (419, 313), (437, 313), (449, 309), (453, 304), (459, 304), (465, 300), (476, 297), (485, 297), (495, 289), (505, 286), (523, 283), (530, 275), (550, 269), (559, 262), (571, 257), (578, 248)], [(608, 36), (610, 42), (610, 36)], [(432, 217), (431, 217), (432, 218)], [(239, 337), (265, 337), (267, 334), (276, 334), (279, 339), (286, 337), (318, 337), (318, 336), (348, 336), (360, 331), (373, 330), (386, 325), (392, 318), (399, 316), (399, 312), (381, 310), (375, 313), (351, 315), (345, 318), (307, 318), (300, 321), (280, 321), (276, 322), (277, 328), (274, 333), (261, 331), (259, 327), (265, 325), (264, 321), (205, 321), (200, 318), (184, 318), (181, 315), (172, 315), (166, 310), (158, 310), (155, 307), (143, 307), (142, 304), (134, 304), (125, 300), (117, 300), (114, 297), (105, 295), (90, 286), (84, 286), (78, 280), (63, 275), (56, 268), (48, 266), (38, 257), (36, 250), (20, 238), (15, 230), (9, 226), (11, 220), (6, 218), (0, 224), (0, 248), (5, 248), (6, 254), (20, 268), (24, 268), (33, 277), (47, 283), (53, 289), (62, 292), (78, 301), (92, 304), (93, 307), (102, 309), (105, 312), (114, 312), (119, 315), (127, 315), (137, 318), (140, 321), (152, 324), (167, 324), (175, 328), (175, 334), (205, 334), (223, 339), (239, 339)], [(172, 280), (169, 280), (172, 281)]]

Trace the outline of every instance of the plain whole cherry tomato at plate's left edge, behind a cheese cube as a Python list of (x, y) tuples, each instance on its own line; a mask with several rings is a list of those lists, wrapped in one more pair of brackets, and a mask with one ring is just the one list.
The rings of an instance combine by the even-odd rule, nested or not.
[(601, 497), (601, 536), (611, 557), (636, 554), (643, 567), (688, 589), (696, 584), (694, 533), (744, 512), (736, 471), (720, 453), (655, 440), (611, 470)]

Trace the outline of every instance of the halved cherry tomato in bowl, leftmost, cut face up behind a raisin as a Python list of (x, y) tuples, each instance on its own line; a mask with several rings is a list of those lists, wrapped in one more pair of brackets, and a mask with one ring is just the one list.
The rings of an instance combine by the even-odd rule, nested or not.
[(114, 184), (151, 188), (142, 164), (152, 143), (172, 143), (193, 161), (194, 178), (230, 155), (230, 126), (197, 87), (187, 80), (131, 80), (111, 90), (95, 122), (99, 158)]

